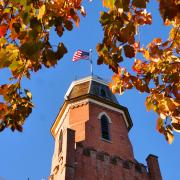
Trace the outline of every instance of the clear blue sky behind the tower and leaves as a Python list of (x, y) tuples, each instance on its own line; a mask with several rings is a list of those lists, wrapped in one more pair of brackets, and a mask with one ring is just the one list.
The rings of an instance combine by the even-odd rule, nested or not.
[[(77, 49), (88, 51), (93, 49), (94, 73), (107, 81), (111, 80), (112, 72), (107, 66), (96, 65), (96, 44), (102, 40), (102, 28), (98, 22), (99, 12), (102, 10), (101, 1), (86, 2), (87, 17), (82, 18), (80, 27), (72, 32), (66, 32), (62, 38), (54, 33), (51, 41), (57, 44), (65, 43), (68, 54), (59, 61), (55, 68), (43, 68), (33, 73), (31, 80), (24, 80), (23, 86), (33, 94), (35, 108), (24, 125), (24, 132), (12, 133), (5, 130), (0, 134), (0, 180), (42, 180), (48, 179), (51, 168), (51, 159), (54, 150), (54, 140), (50, 134), (50, 127), (64, 101), (70, 83), (78, 78), (90, 75), (90, 66), (87, 61), (71, 61)], [(153, 12), (153, 25), (141, 28), (141, 40), (146, 45), (155, 37), (165, 39), (168, 28), (162, 26), (158, 7), (155, 1), (148, 9)], [(133, 60), (126, 59), (129, 66)], [(124, 63), (125, 64), (125, 63)], [(5, 75), (2, 74), (2, 81)], [(120, 104), (128, 107), (134, 126), (129, 136), (134, 148), (136, 159), (146, 164), (148, 154), (159, 157), (160, 168), (164, 180), (180, 179), (179, 150), (180, 135), (175, 134), (175, 141), (169, 145), (164, 137), (156, 130), (157, 116), (147, 112), (144, 106), (146, 94), (134, 90), (117, 96)]]

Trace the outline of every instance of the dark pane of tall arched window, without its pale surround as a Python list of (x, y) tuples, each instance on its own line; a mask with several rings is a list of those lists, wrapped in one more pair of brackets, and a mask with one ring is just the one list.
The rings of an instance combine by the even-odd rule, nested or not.
[(101, 137), (106, 140), (110, 140), (110, 133), (109, 133), (109, 120), (106, 115), (101, 116)]

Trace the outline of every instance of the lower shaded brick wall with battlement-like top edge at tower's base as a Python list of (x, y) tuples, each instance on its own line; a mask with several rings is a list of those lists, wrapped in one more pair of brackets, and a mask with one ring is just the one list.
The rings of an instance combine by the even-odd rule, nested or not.
[(149, 180), (144, 165), (76, 146), (75, 180)]

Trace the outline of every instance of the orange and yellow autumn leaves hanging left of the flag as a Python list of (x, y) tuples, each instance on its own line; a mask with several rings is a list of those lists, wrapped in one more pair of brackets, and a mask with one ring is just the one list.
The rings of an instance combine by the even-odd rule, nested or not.
[(21, 81), (43, 66), (54, 67), (67, 53), (62, 42), (53, 48), (50, 30), (54, 27), (59, 37), (71, 31), (73, 23), (79, 25), (78, 11), (85, 16), (81, 0), (0, 1), (0, 69), (8, 68), (12, 75), (0, 85), (0, 131), (22, 131), (33, 103)]

